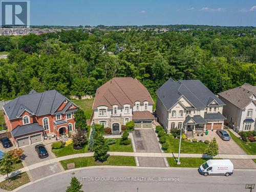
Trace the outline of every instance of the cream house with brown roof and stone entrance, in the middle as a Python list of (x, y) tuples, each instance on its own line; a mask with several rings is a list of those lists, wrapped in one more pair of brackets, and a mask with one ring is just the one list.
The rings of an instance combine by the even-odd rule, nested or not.
[(154, 101), (143, 84), (132, 77), (115, 77), (99, 87), (93, 103), (92, 122), (120, 133), (121, 125), (135, 122), (135, 128), (152, 128)]

